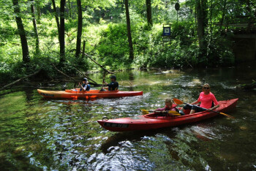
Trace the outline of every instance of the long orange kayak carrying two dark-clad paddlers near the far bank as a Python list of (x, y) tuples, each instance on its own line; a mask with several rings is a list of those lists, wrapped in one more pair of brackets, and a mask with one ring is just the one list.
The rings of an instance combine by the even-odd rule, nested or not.
[(122, 96), (141, 96), (143, 91), (79, 91), (79, 89), (65, 91), (46, 91), (37, 89), (42, 96), (52, 99), (96, 99), (96, 98), (116, 98)]

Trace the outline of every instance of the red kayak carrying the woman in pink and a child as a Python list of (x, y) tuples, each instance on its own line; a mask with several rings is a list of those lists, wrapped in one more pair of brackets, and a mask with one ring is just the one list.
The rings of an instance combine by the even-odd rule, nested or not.
[[(219, 101), (219, 107), (216, 111), (225, 113), (228, 110), (232, 110), (236, 107), (238, 99), (229, 99), (225, 101)], [(189, 110), (185, 111), (189, 113)], [(178, 126), (185, 123), (193, 123), (201, 121), (207, 118), (219, 115), (219, 113), (211, 111), (203, 111), (200, 113), (194, 113), (191, 115), (173, 116), (158, 115), (157, 113), (150, 113), (148, 115), (138, 115), (132, 118), (116, 118), (109, 120), (98, 120), (98, 123), (105, 129), (113, 132), (127, 132), (147, 129), (159, 129), (169, 126)], [(107, 118), (108, 119), (108, 118)]]

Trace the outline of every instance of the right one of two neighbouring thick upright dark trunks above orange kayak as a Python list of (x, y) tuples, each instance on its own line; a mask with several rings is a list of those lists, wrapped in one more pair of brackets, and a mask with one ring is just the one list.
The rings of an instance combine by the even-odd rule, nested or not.
[(81, 0), (77, 0), (77, 4), (78, 4), (78, 35), (77, 35), (77, 47), (75, 51), (75, 56), (79, 57), (80, 51), (81, 51), (81, 37), (82, 37), (82, 26), (83, 26)]

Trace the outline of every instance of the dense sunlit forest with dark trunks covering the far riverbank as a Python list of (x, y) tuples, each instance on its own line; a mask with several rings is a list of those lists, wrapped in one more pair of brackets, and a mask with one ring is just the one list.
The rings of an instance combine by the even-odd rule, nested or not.
[(230, 29), (255, 18), (254, 0), (0, 0), (0, 82), (100, 70), (94, 61), (112, 71), (233, 65)]

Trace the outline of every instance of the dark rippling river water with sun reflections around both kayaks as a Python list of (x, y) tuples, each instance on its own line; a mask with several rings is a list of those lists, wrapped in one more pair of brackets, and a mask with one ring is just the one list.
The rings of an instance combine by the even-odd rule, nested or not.
[[(253, 65), (252, 65), (253, 66)], [(256, 170), (256, 91), (236, 88), (255, 68), (118, 72), (119, 89), (143, 96), (118, 99), (44, 99), (37, 88), (0, 96), (0, 170)], [(102, 75), (90, 75), (101, 82)], [(194, 102), (203, 83), (218, 100), (239, 98), (235, 119), (215, 118), (143, 132), (109, 132), (103, 116), (142, 115), (165, 98)], [(34, 83), (61, 89), (63, 84)], [(26, 85), (25, 85), (26, 86)], [(52, 88), (49, 88), (52, 86)], [(65, 88), (73, 88), (65, 83)]]

